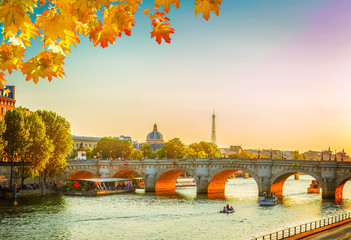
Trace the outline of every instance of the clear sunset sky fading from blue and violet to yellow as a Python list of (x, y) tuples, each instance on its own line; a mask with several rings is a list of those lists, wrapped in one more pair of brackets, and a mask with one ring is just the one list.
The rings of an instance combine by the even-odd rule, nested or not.
[(105, 49), (81, 38), (63, 80), (8, 77), (16, 106), (59, 113), (73, 135), (144, 142), (156, 122), (185, 144), (210, 141), (214, 111), (220, 147), (351, 154), (351, 1), (224, 0), (208, 22), (182, 1), (161, 45), (144, 2), (132, 36)]

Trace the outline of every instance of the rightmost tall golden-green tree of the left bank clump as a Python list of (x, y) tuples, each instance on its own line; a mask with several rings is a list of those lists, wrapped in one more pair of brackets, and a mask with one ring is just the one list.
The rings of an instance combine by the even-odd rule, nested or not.
[(67, 165), (66, 157), (72, 149), (71, 125), (64, 118), (52, 111), (39, 110), (38, 115), (42, 118), (46, 135), (53, 145), (53, 152), (43, 170), (43, 179), (56, 175)]

